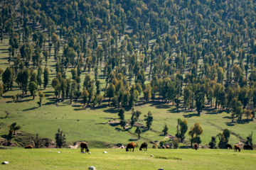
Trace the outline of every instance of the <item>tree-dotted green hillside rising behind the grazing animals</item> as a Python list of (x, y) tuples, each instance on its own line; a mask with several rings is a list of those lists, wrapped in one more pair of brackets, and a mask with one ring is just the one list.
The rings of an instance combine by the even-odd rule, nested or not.
[(0, 134), (11, 140), (16, 122), (50, 139), (64, 129), (68, 143), (159, 144), (164, 133), (186, 146), (216, 135), (218, 147), (252, 144), (255, 10), (255, 0), (1, 1)]

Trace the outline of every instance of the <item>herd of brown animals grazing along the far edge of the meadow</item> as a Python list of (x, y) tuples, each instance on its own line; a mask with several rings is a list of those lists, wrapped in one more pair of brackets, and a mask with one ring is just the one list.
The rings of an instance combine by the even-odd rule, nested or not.
[[(134, 142), (130, 142), (130, 143), (127, 145), (127, 147), (126, 147), (126, 151), (127, 151), (127, 152), (128, 152), (128, 151), (134, 152), (135, 146), (136, 146), (136, 145), (135, 145)], [(89, 149), (88, 149), (88, 146), (87, 146), (87, 143), (86, 143), (86, 142), (81, 142), (81, 143), (80, 143), (80, 147), (81, 147), (81, 152), (83, 152), (84, 149), (85, 149), (85, 152), (89, 152)], [(231, 146), (230, 144), (227, 144), (226, 147), (227, 147), (227, 149), (232, 149), (232, 146)], [(33, 149), (33, 147), (32, 147), (31, 145), (27, 145), (27, 146), (24, 147), (24, 148), (25, 148), (25, 149)], [(124, 146), (122, 146), (121, 148), (124, 149)], [(145, 150), (146, 148), (147, 148), (147, 143), (144, 142), (144, 143), (142, 143), (141, 147), (139, 147), (139, 150), (142, 151), (142, 149)], [(163, 146), (163, 149), (169, 149), (169, 148), (170, 148), (169, 145)], [(196, 149), (196, 150), (198, 149), (198, 144), (197, 144), (197, 143), (194, 144), (194, 149)], [(243, 149), (250, 149), (250, 150), (252, 150), (253, 148), (252, 148), (251, 145), (244, 145), (244, 146), (243, 146)], [(240, 147), (239, 147), (238, 145), (235, 145), (235, 152), (238, 152), (238, 151), (240, 152), (241, 149), (240, 149)]]

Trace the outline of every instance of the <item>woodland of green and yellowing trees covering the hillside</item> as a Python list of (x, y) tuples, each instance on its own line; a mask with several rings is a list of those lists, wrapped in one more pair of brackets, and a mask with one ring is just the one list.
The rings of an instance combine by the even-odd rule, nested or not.
[(122, 111), (151, 101), (198, 115), (230, 111), (232, 123), (255, 118), (255, 0), (6, 0), (0, 7), (0, 45), (9, 45), (0, 96), (19, 89), (10, 101), (43, 106), (50, 89), (56, 104), (118, 108), (123, 128)]

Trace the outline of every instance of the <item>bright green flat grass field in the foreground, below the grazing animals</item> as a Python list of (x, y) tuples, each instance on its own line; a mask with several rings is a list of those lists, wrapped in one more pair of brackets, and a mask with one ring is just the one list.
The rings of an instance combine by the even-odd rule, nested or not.
[[(51, 152), (49, 152), (51, 150)], [(107, 151), (107, 154), (103, 154)], [(58, 152), (61, 152), (58, 154)], [(1, 169), (255, 169), (256, 151), (227, 149), (4, 149)], [(154, 157), (150, 157), (151, 154)], [(156, 158), (156, 157), (162, 157)], [(166, 159), (163, 159), (166, 158)]]

